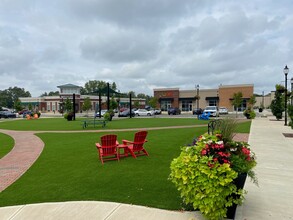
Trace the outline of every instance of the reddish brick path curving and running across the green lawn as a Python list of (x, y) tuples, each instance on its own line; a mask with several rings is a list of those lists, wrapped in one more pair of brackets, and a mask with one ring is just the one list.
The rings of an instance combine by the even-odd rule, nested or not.
[[(206, 125), (203, 125), (206, 126)], [(157, 129), (174, 129), (183, 127), (200, 127), (200, 126), (174, 126), (174, 127), (160, 127), (160, 128), (148, 128), (146, 130), (157, 130)], [(137, 130), (137, 129), (122, 129), (122, 130), (105, 130), (101, 132), (111, 132), (111, 131), (126, 131), (126, 130)], [(143, 130), (143, 128), (142, 128)], [(15, 146), (13, 149), (2, 159), (0, 159), (0, 192), (5, 190), (8, 186), (14, 183), (18, 178), (20, 178), (38, 159), (43, 148), (44, 143), (40, 138), (35, 136), (35, 133), (40, 133), (39, 131), (11, 131), (2, 130), (1, 133), (11, 136), (15, 141)], [(43, 131), (42, 131), (43, 132)], [(56, 132), (56, 131), (49, 131)], [(58, 131), (60, 133), (60, 131)], [(73, 131), (63, 131), (64, 133)], [(75, 131), (81, 132), (81, 131)], [(95, 130), (88, 130), (83, 132), (97, 132)], [(245, 141), (248, 142), (249, 134), (237, 133), (234, 136), (235, 141)]]

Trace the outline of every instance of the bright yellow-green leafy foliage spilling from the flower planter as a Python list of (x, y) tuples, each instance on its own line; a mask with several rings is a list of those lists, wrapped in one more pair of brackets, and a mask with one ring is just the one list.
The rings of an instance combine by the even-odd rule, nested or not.
[[(237, 190), (233, 183), (238, 174), (229, 163), (220, 164), (212, 156), (202, 155), (205, 147), (204, 142), (183, 147), (171, 163), (170, 179), (184, 203), (192, 204), (208, 219), (220, 219), (226, 217), (227, 207), (232, 203), (241, 203), (244, 191)], [(240, 198), (235, 199), (232, 194)]]

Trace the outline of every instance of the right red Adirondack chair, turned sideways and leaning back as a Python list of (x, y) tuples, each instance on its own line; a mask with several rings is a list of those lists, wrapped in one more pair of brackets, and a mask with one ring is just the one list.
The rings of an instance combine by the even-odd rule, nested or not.
[(127, 146), (126, 152), (129, 152), (132, 157), (136, 158), (137, 156), (149, 155), (146, 149), (144, 149), (143, 145), (146, 140), (148, 132), (147, 131), (139, 131), (134, 135), (134, 141), (122, 140), (123, 145)]

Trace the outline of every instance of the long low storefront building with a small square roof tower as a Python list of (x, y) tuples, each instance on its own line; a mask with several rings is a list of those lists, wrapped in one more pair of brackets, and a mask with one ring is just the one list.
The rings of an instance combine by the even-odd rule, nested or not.
[[(57, 86), (60, 89), (59, 96), (44, 96), (44, 97), (22, 97), (19, 98), (21, 105), (25, 109), (29, 109), (29, 106), (33, 110), (39, 110), (41, 112), (61, 112), (63, 110), (63, 105), (67, 99), (73, 103), (73, 94), (75, 96), (75, 111), (81, 112), (82, 105), (86, 98), (90, 98), (91, 109), (90, 111), (97, 111), (99, 105), (99, 95), (80, 95), (80, 86), (73, 84), (65, 84)], [(111, 99), (111, 97), (110, 97)], [(129, 98), (115, 97), (119, 108), (129, 107)], [(132, 106), (138, 103), (140, 108), (144, 108), (146, 103), (145, 99), (142, 98), (132, 98)], [(101, 109), (107, 109), (107, 96), (101, 96)]]

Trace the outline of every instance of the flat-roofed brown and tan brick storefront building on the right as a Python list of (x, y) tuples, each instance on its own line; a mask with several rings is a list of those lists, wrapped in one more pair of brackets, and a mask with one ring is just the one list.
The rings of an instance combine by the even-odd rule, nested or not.
[(162, 88), (154, 89), (154, 97), (158, 100), (157, 108), (162, 111), (175, 107), (183, 112), (191, 112), (197, 108), (204, 109), (206, 106), (226, 107), (229, 111), (234, 111), (233, 95), (242, 93), (242, 106), (239, 110), (243, 110), (248, 106), (247, 101), (253, 95), (253, 89), (253, 84), (220, 85), (216, 89)]

